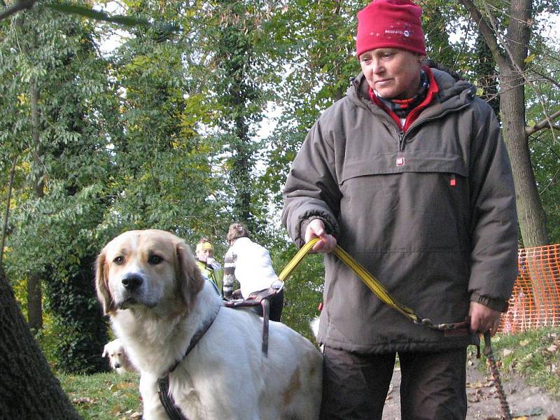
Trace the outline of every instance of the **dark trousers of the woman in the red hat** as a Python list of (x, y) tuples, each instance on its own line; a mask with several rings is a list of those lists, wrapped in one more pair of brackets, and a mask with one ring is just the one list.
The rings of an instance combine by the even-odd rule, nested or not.
[[(396, 353), (323, 350), (321, 420), (381, 420)], [(398, 352), (402, 420), (464, 420), (466, 349)]]

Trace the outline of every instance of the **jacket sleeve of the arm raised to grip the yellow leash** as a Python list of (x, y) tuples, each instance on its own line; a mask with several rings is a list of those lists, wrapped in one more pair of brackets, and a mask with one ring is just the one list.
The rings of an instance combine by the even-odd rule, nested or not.
[(330, 235), (338, 235), (340, 197), (334, 147), (323, 137), (319, 120), (297, 153), (283, 191), (282, 223), (297, 246), (304, 244), (305, 229), (315, 218)]

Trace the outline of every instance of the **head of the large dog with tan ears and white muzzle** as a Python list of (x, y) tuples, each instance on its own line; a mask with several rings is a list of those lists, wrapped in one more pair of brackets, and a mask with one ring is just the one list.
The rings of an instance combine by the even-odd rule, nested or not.
[(189, 311), (204, 277), (179, 237), (162, 230), (131, 230), (98, 255), (95, 286), (105, 314), (158, 305)]

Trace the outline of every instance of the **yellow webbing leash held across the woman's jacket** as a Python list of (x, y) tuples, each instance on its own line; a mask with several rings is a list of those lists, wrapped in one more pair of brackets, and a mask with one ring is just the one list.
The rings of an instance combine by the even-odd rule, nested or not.
[[(297, 251), (292, 260), (288, 262), (288, 265), (284, 267), (284, 269), (278, 276), (281, 281), (285, 281), (288, 276), (290, 276), (290, 274), (293, 272), (293, 269), (295, 269), (295, 267), (297, 267), (304, 256), (307, 255), (309, 251), (311, 251), (311, 248), (313, 248), (314, 244), (316, 244), (317, 241), (318, 238), (311, 239), (309, 242), (307, 242), (307, 244), (300, 248), (300, 251)], [(348, 265), (353, 270), (353, 272), (355, 272), (360, 277), (365, 285), (370, 288), (370, 290), (372, 290), (372, 292), (375, 293), (377, 297), (379, 297), (381, 302), (388, 304), (388, 306), (392, 307), (396, 311), (399, 311), (401, 314), (403, 314), (407, 318), (410, 318), (415, 323), (423, 323), (424, 325), (429, 326), (428, 323), (431, 323), (429, 320), (422, 320), (418, 315), (416, 315), (416, 313), (414, 313), (412, 309), (405, 307), (405, 305), (397, 302), (393, 297), (391, 297), (391, 295), (389, 295), (385, 286), (379, 283), (379, 281), (375, 279), (375, 277), (372, 276), (369, 272), (367, 272), (367, 270), (362, 265), (360, 265), (358, 261), (354, 260), (349, 253), (344, 251), (344, 249), (340, 248), (340, 246), (338, 245), (335, 248), (335, 254), (338, 258), (340, 258), (340, 260), (342, 260), (342, 262)]]

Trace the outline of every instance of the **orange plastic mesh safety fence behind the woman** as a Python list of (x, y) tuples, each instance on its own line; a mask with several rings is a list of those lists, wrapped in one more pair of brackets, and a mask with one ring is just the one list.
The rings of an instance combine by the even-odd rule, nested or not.
[(560, 325), (560, 244), (519, 249), (517, 281), (500, 331)]

